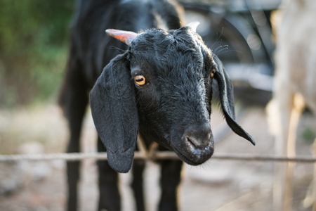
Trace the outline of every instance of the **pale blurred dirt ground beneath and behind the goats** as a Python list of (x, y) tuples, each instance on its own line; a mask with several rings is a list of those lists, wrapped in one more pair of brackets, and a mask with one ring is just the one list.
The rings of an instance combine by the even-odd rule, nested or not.
[[(223, 122), (220, 113), (212, 116), (213, 131)], [(216, 153), (272, 155), (274, 139), (268, 132), (263, 106), (251, 106), (238, 120), (254, 136), (257, 145), (235, 134), (216, 143)], [(310, 155), (316, 121), (304, 113), (297, 139), (298, 155)], [(61, 153), (67, 143), (65, 120), (57, 106), (0, 110), (0, 153)], [(96, 132), (88, 114), (81, 146), (96, 151)], [(199, 167), (185, 165), (179, 190), (182, 211), (267, 211), (272, 210), (273, 162), (246, 162), (211, 159)], [(312, 179), (312, 164), (298, 163), (294, 172), (294, 210), (308, 211), (302, 201)], [(95, 160), (84, 160), (81, 168), (80, 210), (96, 210), (98, 200)], [(124, 211), (135, 210), (130, 174), (120, 175)], [(156, 210), (159, 200), (159, 167), (147, 162), (145, 196), (147, 210)], [(65, 162), (0, 163), (0, 210), (58, 211), (66, 203)]]

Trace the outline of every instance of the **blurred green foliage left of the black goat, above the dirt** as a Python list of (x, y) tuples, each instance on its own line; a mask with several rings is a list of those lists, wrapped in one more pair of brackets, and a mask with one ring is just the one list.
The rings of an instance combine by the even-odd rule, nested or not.
[(0, 106), (57, 93), (73, 11), (74, 0), (0, 0)]

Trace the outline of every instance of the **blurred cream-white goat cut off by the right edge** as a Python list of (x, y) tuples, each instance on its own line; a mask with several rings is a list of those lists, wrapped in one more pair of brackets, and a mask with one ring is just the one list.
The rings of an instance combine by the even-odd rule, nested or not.
[[(296, 129), (305, 106), (316, 115), (316, 2), (284, 2), (277, 28), (276, 75), (273, 103), (268, 111), (278, 117), (276, 153), (295, 156)], [(316, 147), (316, 146), (315, 146)], [(291, 210), (291, 177), (294, 163), (275, 167), (274, 210)], [(316, 181), (314, 178), (314, 210)]]

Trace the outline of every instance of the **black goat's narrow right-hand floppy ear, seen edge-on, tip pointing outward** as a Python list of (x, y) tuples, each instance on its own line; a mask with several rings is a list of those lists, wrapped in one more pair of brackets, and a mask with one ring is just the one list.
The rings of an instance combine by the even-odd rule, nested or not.
[(254, 139), (249, 135), (242, 127), (240, 127), (237, 122), (235, 122), (235, 107), (234, 107), (234, 96), (232, 92), (232, 83), (223, 69), (223, 64), (220, 62), (217, 56), (213, 56), (215, 63), (217, 64), (217, 69), (214, 74), (213, 79), (216, 79), (216, 83), (213, 83), (213, 89), (217, 89), (220, 98), (220, 104), (223, 109), (223, 113), (228, 126), (233, 132), (239, 136), (244, 137), (252, 144), (256, 145)]

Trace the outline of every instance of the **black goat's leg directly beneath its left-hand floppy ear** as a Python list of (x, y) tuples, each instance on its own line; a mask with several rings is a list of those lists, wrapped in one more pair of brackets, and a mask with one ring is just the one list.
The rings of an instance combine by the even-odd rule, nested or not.
[[(98, 138), (98, 151), (105, 152), (105, 146)], [(110, 167), (109, 162), (98, 160), (99, 170), (99, 205), (98, 210), (121, 210), (121, 197), (119, 195), (119, 174)]]

